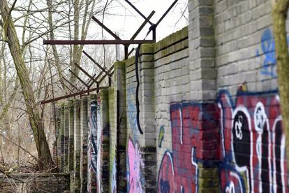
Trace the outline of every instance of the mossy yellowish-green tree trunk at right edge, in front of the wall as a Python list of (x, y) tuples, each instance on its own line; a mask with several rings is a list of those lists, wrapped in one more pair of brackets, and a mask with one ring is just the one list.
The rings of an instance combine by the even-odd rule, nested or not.
[[(286, 132), (286, 156), (289, 161), (289, 56), (286, 36), (289, 0), (273, 0), (272, 3), (281, 114), (283, 128)], [(287, 168), (289, 169), (289, 162), (287, 162)]]

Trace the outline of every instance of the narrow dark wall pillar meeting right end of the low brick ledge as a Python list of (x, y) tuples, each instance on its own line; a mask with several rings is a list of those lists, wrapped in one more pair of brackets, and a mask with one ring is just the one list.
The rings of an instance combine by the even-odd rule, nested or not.
[(68, 170), (73, 171), (73, 157), (74, 157), (74, 108), (73, 108), (73, 100), (68, 101), (68, 125), (69, 125), (69, 139), (68, 139)]

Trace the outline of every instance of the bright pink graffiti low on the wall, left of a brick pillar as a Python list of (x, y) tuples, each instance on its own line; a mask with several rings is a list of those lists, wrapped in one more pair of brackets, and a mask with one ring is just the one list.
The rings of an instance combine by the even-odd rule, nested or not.
[(133, 144), (131, 138), (128, 139), (127, 146), (127, 192), (144, 192), (142, 185), (144, 185), (144, 178), (142, 171), (144, 169), (144, 161), (140, 153), (140, 145)]

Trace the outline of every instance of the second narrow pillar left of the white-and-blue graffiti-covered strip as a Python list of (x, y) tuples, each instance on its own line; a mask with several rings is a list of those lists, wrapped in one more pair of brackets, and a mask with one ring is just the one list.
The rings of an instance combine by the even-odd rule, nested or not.
[(80, 192), (80, 99), (74, 100), (74, 190)]

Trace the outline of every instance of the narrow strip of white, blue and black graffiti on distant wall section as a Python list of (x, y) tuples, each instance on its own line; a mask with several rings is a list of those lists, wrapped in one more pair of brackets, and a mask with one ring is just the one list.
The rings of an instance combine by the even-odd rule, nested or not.
[(101, 138), (101, 110), (93, 101), (89, 110), (88, 192), (101, 192)]

